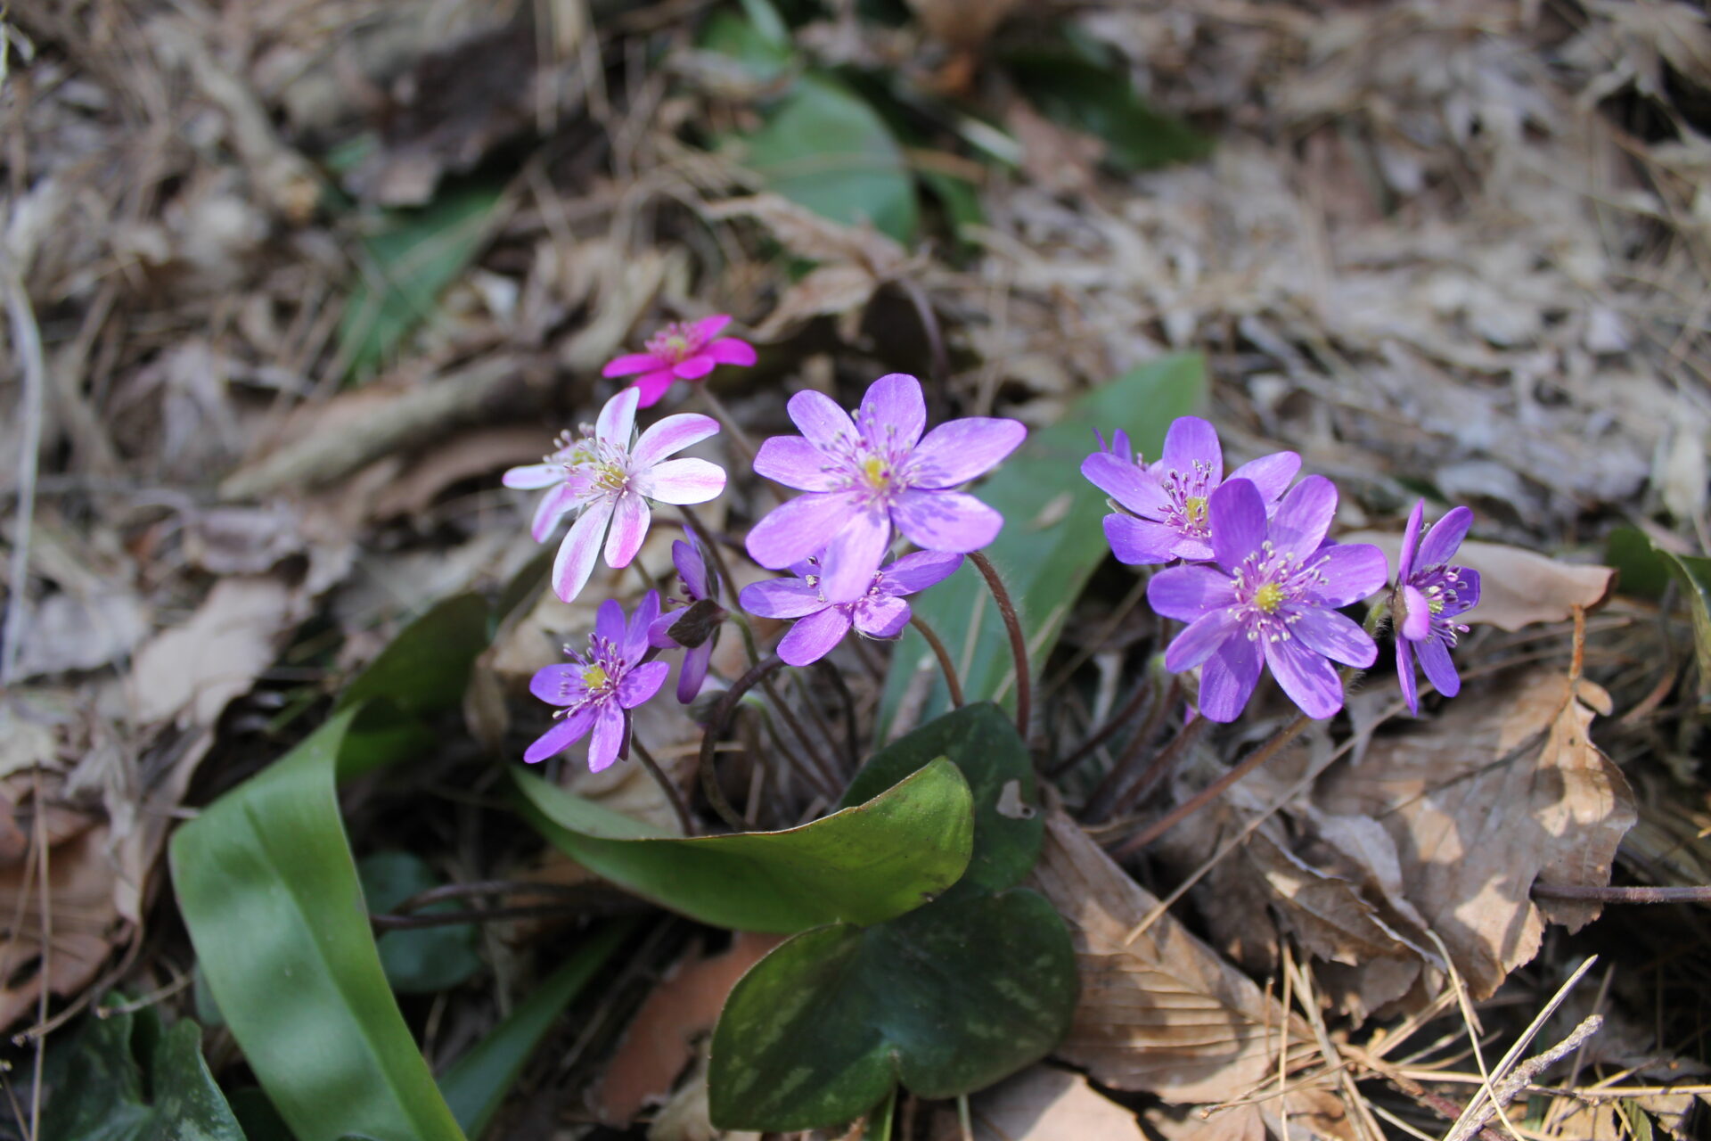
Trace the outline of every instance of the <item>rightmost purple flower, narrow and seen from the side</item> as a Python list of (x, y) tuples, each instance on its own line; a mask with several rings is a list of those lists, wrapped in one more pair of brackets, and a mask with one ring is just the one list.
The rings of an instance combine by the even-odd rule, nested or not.
[(1420, 712), (1420, 693), (1413, 679), (1415, 655), (1439, 693), (1446, 698), (1461, 693), (1461, 676), (1456, 674), (1449, 652), (1456, 645), (1456, 635), (1468, 633), (1468, 628), (1454, 619), (1480, 604), (1480, 573), (1466, 566), (1446, 566), (1466, 537), (1473, 511), (1465, 506), (1451, 508), (1422, 541), (1424, 522), (1425, 500), (1420, 500), (1408, 515), (1401, 556), (1396, 559), (1396, 590), (1391, 592), (1396, 676), (1401, 677), (1401, 696), (1412, 713)]

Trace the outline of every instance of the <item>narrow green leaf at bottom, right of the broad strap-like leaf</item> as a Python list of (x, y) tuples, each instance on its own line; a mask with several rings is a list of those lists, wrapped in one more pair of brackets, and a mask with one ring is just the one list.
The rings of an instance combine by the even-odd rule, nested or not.
[(464, 1132), (479, 1138), (486, 1131), (546, 1032), (635, 925), (633, 919), (613, 920), (583, 939), (546, 982), (445, 1073), (440, 1090)]

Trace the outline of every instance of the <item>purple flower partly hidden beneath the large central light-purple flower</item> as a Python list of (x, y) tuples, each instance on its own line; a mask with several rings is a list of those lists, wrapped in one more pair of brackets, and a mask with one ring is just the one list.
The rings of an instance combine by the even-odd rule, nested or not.
[[(790, 633), (779, 643), (779, 657), (787, 665), (818, 662), (844, 640), (850, 626), (869, 638), (895, 638), (909, 624), (909, 604), (902, 595), (944, 582), (962, 566), (962, 554), (950, 551), (915, 551), (874, 571), (867, 592), (854, 602), (828, 600), (825, 578), (818, 573), (823, 559), (799, 563), (799, 578), (770, 578), (743, 587), (743, 609), (761, 618), (794, 618)], [(830, 571), (828, 571), (830, 576)]]

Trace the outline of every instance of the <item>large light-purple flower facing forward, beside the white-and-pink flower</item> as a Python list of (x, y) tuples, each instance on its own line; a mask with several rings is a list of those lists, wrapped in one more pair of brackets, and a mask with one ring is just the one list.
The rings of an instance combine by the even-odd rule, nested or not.
[(891, 527), (927, 551), (968, 553), (989, 544), (1004, 517), (953, 491), (984, 476), (1021, 445), (1013, 419), (967, 417), (927, 426), (921, 381), (891, 373), (873, 381), (852, 423), (818, 392), (790, 397), (801, 436), (773, 436), (755, 470), (808, 494), (755, 523), (748, 551), (780, 570), (825, 551), (820, 590), (832, 600), (862, 597), (891, 546)]

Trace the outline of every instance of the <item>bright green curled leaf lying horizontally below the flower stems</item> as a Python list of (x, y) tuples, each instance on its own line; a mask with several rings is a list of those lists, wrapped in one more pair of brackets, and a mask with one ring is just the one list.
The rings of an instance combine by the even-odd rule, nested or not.
[(891, 919), (956, 883), (974, 842), (968, 783), (950, 761), (801, 828), (695, 838), (513, 775), (524, 814), (566, 855), (660, 907), (736, 931)]

